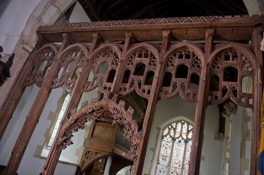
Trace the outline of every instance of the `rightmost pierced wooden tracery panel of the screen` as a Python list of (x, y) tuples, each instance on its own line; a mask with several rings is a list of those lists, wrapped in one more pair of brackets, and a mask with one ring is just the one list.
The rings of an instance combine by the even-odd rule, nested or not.
[(243, 92), (242, 79), (250, 78), (254, 89), (256, 58), (250, 51), (243, 49), (233, 47), (212, 54), (208, 105), (220, 104), (230, 97), (240, 106), (253, 108), (253, 93)]

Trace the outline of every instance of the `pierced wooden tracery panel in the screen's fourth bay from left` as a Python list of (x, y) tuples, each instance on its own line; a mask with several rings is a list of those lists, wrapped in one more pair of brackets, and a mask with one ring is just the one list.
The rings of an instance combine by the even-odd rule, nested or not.
[(137, 45), (124, 57), (119, 94), (128, 94), (136, 89), (140, 96), (148, 98), (157, 71), (159, 52), (149, 44)]

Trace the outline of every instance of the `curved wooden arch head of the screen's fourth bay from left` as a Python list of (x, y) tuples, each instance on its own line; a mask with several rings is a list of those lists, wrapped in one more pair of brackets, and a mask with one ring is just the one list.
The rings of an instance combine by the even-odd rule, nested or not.
[(139, 49), (149, 49), (154, 54), (155, 58), (157, 59), (157, 62), (159, 62), (159, 51), (154, 46), (147, 43), (140, 43), (137, 44), (135, 47), (130, 48), (124, 56), (124, 62), (126, 62), (129, 57), (135, 52), (137, 52)]

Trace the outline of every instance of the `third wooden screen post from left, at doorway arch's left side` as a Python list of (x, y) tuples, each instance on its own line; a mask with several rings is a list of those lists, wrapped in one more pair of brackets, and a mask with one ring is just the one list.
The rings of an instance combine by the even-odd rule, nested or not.
[[(89, 49), (87, 58), (89, 58), (90, 55), (92, 54), (92, 52), (97, 48), (98, 43), (100, 41), (101, 41), (101, 38), (100, 38), (99, 33), (94, 33), (92, 45), (91, 45), (91, 48)], [(46, 162), (44, 164), (44, 169), (43, 169), (42, 175), (52, 175), (55, 171), (56, 165), (59, 161), (60, 154), (62, 152), (62, 145), (56, 145), (56, 143), (58, 141), (58, 133), (60, 133), (60, 128), (62, 128), (62, 124), (66, 121), (67, 116), (70, 115), (71, 110), (74, 109), (75, 107), (77, 107), (79, 104), (79, 101), (80, 101), (81, 96), (82, 96), (81, 90), (83, 87), (83, 82), (87, 78), (87, 75), (89, 74), (89, 70), (90, 70), (90, 66), (89, 66), (90, 64), (89, 63), (90, 62), (87, 59), (86, 62), (84, 63), (82, 73), (78, 77), (76, 85), (73, 88), (71, 98), (70, 98), (69, 103), (65, 109), (62, 121), (60, 122), (60, 126), (58, 128), (58, 132), (56, 134), (56, 137), (55, 137), (53, 144), (51, 146), (51, 149), (49, 151), (49, 155), (48, 155)]]

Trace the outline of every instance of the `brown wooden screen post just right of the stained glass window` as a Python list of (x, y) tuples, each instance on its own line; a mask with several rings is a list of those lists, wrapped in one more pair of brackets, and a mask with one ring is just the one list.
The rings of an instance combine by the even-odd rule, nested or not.
[(199, 86), (199, 96), (196, 104), (194, 134), (192, 136), (191, 157), (188, 171), (189, 175), (199, 175), (200, 170), (204, 121), (209, 89), (208, 62), (210, 61), (209, 56), (212, 52), (214, 32), (215, 29), (206, 29), (205, 31), (205, 64), (202, 67), (202, 83)]

